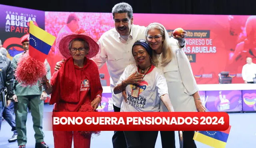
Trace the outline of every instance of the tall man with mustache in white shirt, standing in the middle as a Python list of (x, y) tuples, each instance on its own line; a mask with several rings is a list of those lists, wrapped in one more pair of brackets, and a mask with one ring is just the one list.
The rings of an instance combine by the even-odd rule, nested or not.
[[(115, 28), (105, 32), (98, 44), (99, 54), (92, 60), (101, 68), (107, 63), (110, 74), (110, 88), (115, 112), (120, 112), (123, 101), (122, 93), (114, 94), (113, 90), (126, 66), (135, 63), (132, 55), (132, 45), (139, 39), (145, 39), (144, 26), (133, 24), (132, 6), (127, 3), (116, 4), (112, 8)], [(112, 137), (113, 148), (126, 148), (123, 131), (115, 131)]]

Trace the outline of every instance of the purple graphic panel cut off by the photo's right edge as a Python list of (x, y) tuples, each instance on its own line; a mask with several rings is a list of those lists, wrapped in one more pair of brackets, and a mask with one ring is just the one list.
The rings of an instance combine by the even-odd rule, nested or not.
[(256, 90), (243, 90), (243, 111), (256, 111)]

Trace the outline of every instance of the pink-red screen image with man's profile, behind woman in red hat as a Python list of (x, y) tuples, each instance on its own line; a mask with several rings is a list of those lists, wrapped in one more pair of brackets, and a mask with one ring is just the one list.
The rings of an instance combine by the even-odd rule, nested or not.
[[(45, 12), (45, 30), (56, 36), (56, 41), (59, 41), (63, 34), (75, 32), (78, 28), (85, 30), (89, 36), (98, 41), (104, 32), (114, 28), (113, 16), (111, 13)], [(48, 63), (51, 66), (52, 73), (56, 62), (62, 60), (56, 47), (56, 41), (48, 54)], [(99, 72), (104, 74), (102, 80), (106, 81), (102, 83), (102, 86), (110, 86), (110, 77), (106, 65)]]

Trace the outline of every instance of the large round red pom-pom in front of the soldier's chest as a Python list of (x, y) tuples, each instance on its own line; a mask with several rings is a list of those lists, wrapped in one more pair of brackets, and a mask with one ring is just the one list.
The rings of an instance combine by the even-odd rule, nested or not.
[(36, 85), (37, 81), (46, 75), (46, 67), (44, 63), (37, 61), (29, 56), (28, 52), (24, 53), (15, 71), (16, 80), (22, 86)]

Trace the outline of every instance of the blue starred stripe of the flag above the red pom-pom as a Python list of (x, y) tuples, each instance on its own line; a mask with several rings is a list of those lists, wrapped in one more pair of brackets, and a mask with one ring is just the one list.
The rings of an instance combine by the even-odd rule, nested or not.
[(38, 39), (37, 37), (30, 34), (29, 39), (29, 45), (37, 49), (38, 51), (41, 51), (42, 53), (48, 55), (50, 49), (52, 46), (48, 45), (44, 41)]

